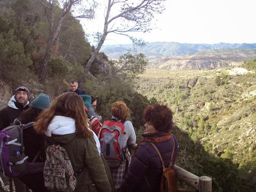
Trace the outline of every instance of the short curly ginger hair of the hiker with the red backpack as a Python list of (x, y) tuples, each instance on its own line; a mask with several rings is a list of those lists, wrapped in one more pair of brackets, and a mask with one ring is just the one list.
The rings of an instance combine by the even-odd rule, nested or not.
[(117, 101), (111, 107), (111, 113), (114, 117), (118, 117), (121, 121), (125, 121), (130, 115), (130, 109), (127, 107), (125, 102)]

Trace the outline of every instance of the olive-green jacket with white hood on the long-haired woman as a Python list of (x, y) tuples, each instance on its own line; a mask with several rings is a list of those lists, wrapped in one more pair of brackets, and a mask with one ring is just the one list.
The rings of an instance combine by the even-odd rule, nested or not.
[[(70, 117), (66, 117), (70, 118)], [(81, 173), (76, 176), (77, 183), (75, 192), (79, 191), (98, 191), (98, 192), (110, 192), (111, 188), (105, 172), (103, 161), (96, 148), (96, 143), (93, 137), (83, 138), (78, 137), (75, 133), (73, 125), (75, 124), (74, 119), (66, 120), (70, 121), (69, 126), (61, 125), (56, 126), (56, 121), (52, 120), (47, 130), (48, 136), (46, 136), (46, 144), (60, 144), (65, 148), (69, 155), (71, 164), (74, 169), (74, 173)], [(52, 126), (52, 124), (54, 124)], [(70, 133), (70, 132), (73, 133)], [(61, 135), (62, 132), (65, 135)], [(49, 136), (51, 135), (51, 136)]]

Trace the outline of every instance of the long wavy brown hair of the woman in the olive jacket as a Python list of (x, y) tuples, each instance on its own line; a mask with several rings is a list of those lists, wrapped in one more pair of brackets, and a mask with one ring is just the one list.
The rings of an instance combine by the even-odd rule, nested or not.
[(92, 137), (93, 132), (88, 129), (88, 117), (84, 110), (82, 97), (74, 92), (65, 92), (58, 96), (52, 105), (41, 112), (37, 117), (34, 129), (38, 133), (44, 133), (47, 130), (54, 116), (66, 116), (75, 120), (76, 135), (79, 137)]

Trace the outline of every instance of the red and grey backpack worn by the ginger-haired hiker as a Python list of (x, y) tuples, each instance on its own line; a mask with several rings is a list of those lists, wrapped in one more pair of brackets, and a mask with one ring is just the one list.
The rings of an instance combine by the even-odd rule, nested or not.
[(119, 121), (104, 121), (99, 132), (100, 150), (110, 168), (118, 168), (124, 160), (122, 149), (124, 124)]

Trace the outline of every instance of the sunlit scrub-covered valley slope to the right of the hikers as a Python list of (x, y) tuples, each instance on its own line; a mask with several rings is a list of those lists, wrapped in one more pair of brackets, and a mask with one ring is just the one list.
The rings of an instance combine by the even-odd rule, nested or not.
[(243, 68), (209, 71), (151, 69), (137, 90), (171, 107), (180, 129), (215, 156), (238, 164), (256, 184), (256, 76)]

